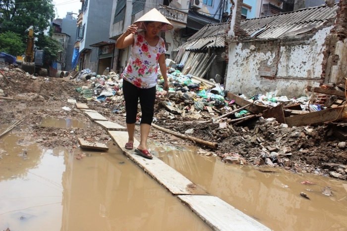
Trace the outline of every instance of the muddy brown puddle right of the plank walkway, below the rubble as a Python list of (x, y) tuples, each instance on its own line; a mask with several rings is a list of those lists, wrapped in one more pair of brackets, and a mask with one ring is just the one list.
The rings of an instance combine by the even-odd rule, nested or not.
[[(281, 169), (266, 169), (277, 173), (263, 173), (253, 166), (240, 167), (222, 163), (215, 157), (200, 156), (195, 147), (184, 150), (152, 143), (150, 148), (211, 195), (272, 230), (347, 231), (346, 181)], [(300, 184), (305, 180), (315, 184)], [(322, 194), (325, 187), (331, 188), (332, 196)], [(301, 192), (310, 200), (301, 197)]]

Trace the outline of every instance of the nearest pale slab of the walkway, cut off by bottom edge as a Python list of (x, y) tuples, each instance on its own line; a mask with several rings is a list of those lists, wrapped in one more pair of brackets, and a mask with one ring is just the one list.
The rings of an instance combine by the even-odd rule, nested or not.
[(177, 196), (214, 231), (271, 231), (215, 196)]

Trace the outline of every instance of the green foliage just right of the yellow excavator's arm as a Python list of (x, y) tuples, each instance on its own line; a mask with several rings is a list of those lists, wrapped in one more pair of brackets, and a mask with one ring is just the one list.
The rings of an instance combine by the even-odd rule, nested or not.
[(45, 52), (44, 62), (46, 65), (52, 64), (57, 60), (58, 54), (63, 50), (61, 43), (44, 33), (40, 33), (37, 39), (38, 40), (35, 41), (35, 49)]

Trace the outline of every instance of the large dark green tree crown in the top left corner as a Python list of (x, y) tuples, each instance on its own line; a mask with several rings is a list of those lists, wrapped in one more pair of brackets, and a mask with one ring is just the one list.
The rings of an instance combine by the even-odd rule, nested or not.
[(1, 33), (12, 31), (25, 42), (27, 30), (32, 27), (34, 33), (45, 31), (55, 17), (52, 0), (1, 0)]

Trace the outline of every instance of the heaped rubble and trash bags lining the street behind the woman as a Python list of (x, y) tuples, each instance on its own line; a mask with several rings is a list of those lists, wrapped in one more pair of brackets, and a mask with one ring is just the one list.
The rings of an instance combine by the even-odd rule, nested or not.
[[(170, 131), (174, 136), (188, 140), (186, 143), (204, 148), (203, 151), (200, 149), (200, 155), (216, 155), (225, 163), (282, 167), (295, 173), (347, 179), (343, 91), (326, 86), (308, 88), (305, 97), (294, 99), (278, 96), (276, 91), (247, 98), (225, 91), (215, 79), (201, 79), (173, 68), (168, 68), (168, 73), (169, 93), (163, 91), (164, 80), (160, 73), (158, 76), (151, 132)], [(31, 98), (32, 103), (65, 102), (66, 98), (73, 97), (111, 120), (125, 124), (122, 79), (113, 70), (103, 75), (83, 70), (59, 81), (59, 78), (28, 76), (16, 69), (2, 69), (0, 89), (3, 97), (28, 93), (36, 84), (40, 89), (38, 96)], [(59, 90), (65, 92), (59, 94)], [(59, 114), (80, 116), (74, 110)], [(138, 119), (141, 119), (140, 108)], [(48, 128), (41, 130), (46, 135), (54, 132)], [(100, 131), (90, 134), (102, 136)], [(69, 136), (70, 139), (74, 137), (73, 134)], [(165, 135), (155, 136), (166, 141)], [(43, 143), (54, 145), (52, 141)], [(59, 143), (62, 141), (57, 141)], [(68, 139), (63, 144), (68, 145)], [(76, 144), (71, 142), (71, 146)]]

